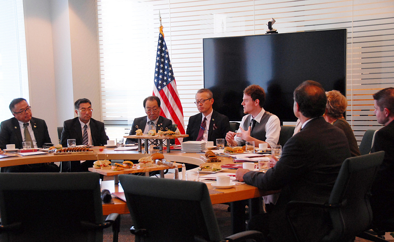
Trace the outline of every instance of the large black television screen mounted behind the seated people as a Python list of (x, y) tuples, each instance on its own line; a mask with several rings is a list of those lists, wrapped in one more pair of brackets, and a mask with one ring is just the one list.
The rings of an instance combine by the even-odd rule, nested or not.
[(208, 38), (203, 48), (204, 87), (230, 121), (245, 115), (243, 90), (251, 84), (264, 88), (264, 109), (281, 122), (297, 120), (293, 91), (303, 81), (346, 95), (346, 29)]

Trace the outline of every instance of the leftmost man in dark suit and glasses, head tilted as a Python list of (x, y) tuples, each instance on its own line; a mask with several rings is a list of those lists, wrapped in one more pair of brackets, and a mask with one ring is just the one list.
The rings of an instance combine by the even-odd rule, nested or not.
[[(22, 148), (23, 141), (30, 141), (34, 148), (42, 148), (44, 143), (52, 143), (44, 120), (32, 117), (31, 107), (24, 98), (16, 98), (9, 106), (11, 119), (0, 124), (0, 148), (15, 144)], [(3, 172), (59, 172), (54, 163), (38, 163), (4, 167)]]

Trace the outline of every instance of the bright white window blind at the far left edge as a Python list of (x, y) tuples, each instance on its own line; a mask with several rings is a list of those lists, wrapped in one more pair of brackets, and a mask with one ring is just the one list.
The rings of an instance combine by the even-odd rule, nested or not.
[[(0, 1), (0, 120), (12, 117), (14, 98), (29, 101), (23, 1)], [(7, 91), (5, 91), (7, 90)]]

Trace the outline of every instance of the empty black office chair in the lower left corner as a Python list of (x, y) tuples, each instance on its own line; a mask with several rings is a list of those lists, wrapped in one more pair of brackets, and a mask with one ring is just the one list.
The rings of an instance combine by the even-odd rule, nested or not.
[(0, 174), (2, 241), (103, 241), (119, 214), (103, 220), (98, 173)]

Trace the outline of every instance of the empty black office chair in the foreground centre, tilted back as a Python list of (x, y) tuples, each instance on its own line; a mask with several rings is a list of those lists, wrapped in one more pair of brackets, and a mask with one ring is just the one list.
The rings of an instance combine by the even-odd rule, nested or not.
[[(222, 241), (205, 183), (129, 175), (119, 180), (135, 241)], [(262, 241), (262, 234), (245, 231), (228, 239)]]

